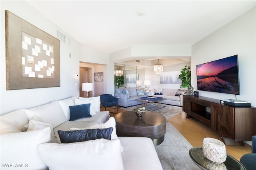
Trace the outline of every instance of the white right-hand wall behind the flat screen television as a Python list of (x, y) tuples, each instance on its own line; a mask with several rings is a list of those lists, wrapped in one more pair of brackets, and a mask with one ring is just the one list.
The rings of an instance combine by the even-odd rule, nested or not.
[[(192, 45), (192, 86), (196, 86), (196, 65), (238, 54), (240, 96), (256, 106), (256, 7)], [(232, 94), (199, 91), (200, 96), (235, 98)]]

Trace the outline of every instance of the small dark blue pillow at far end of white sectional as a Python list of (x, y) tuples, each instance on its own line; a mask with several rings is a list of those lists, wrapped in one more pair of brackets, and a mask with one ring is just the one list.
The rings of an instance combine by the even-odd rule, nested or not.
[(70, 119), (69, 121), (74, 121), (81, 118), (92, 117), (90, 114), (91, 104), (80, 104), (76, 106), (69, 106)]

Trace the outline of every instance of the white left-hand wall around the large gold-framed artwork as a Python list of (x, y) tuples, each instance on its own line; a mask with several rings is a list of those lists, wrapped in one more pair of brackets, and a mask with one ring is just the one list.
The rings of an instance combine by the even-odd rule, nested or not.
[[(6, 90), (5, 10), (16, 14), (46, 33), (56, 37), (60, 31), (70, 38), (70, 46), (60, 42), (60, 87), (26, 90)], [(79, 42), (40, 14), (25, 1), (0, 1), (0, 114), (20, 108), (29, 108), (53, 100), (79, 95)], [(68, 54), (72, 57), (69, 58)], [(75, 85), (77, 84), (77, 86)]]

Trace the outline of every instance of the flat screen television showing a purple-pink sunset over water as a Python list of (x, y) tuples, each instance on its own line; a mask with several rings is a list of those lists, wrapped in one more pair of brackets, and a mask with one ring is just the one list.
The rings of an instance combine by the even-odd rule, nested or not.
[(196, 66), (197, 90), (240, 95), (238, 55)]

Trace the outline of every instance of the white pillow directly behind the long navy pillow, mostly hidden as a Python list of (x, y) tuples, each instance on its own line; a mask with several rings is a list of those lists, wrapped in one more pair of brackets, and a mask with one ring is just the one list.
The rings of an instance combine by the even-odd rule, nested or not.
[(85, 128), (72, 127), (72, 128), (70, 128), (70, 130), (75, 131), (75, 130), (83, 130), (83, 129), (104, 129), (104, 128), (108, 128), (108, 127), (113, 127), (113, 131), (111, 133), (111, 140), (112, 139), (117, 139), (117, 135), (116, 135), (116, 120), (115, 120), (114, 117), (110, 117), (108, 119), (108, 121), (106, 121), (105, 123), (91, 125), (91, 126), (85, 127)]

